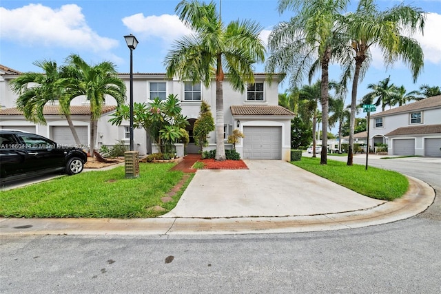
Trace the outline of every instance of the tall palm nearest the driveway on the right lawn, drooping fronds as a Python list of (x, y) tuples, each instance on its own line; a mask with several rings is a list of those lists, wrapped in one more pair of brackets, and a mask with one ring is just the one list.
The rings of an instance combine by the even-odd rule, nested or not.
[[(279, 0), (278, 10), (291, 8), (298, 12), (289, 22), (278, 23), (269, 35), (271, 56), (267, 72), (291, 73), (291, 86), (299, 85), (307, 74), (309, 81), (321, 72), (322, 146), (327, 146), (329, 63), (341, 58), (342, 43), (336, 21), (349, 0)], [(317, 60), (318, 57), (318, 60)], [(327, 164), (327, 149), (322, 148), (320, 164)]]

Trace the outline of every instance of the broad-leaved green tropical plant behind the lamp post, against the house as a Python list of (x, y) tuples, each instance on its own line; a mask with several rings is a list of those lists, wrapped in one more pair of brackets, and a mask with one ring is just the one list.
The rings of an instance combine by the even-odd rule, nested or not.
[[(178, 140), (187, 140), (185, 129), (187, 119), (181, 114), (181, 102), (177, 95), (170, 94), (165, 100), (154, 98), (149, 104), (134, 103), (133, 105), (133, 126), (143, 127), (146, 132), (154, 139), (161, 153), (171, 147), (172, 143)], [(110, 123), (112, 125), (121, 125), (123, 120), (130, 119), (130, 106), (120, 105), (116, 112), (112, 114)]]

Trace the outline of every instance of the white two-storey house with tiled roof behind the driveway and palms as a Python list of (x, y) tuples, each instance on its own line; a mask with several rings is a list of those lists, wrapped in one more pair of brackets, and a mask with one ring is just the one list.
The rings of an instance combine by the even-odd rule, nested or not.
[[(3, 68), (3, 67), (0, 67)], [(4, 67), (7, 69), (7, 67)], [(57, 103), (45, 107), (47, 125), (38, 125), (26, 121), (23, 114), (15, 108), (17, 95), (9, 87), (9, 82), (19, 76), (14, 70), (0, 71), (0, 128), (23, 129), (47, 136), (58, 143), (74, 145), (74, 139), (65, 117), (60, 114)], [(127, 86), (127, 96), (130, 93), (130, 74), (119, 74)], [(232, 134), (233, 129), (243, 132), (245, 138), (236, 144), (236, 151), (242, 158), (282, 159), (290, 160), (291, 119), (294, 113), (278, 106), (278, 78), (275, 75), (268, 83), (266, 74), (255, 74), (255, 83), (249, 85), (241, 94), (235, 92), (228, 81), (223, 83), (223, 110), (225, 142)], [(194, 145), (192, 131), (194, 122), (198, 118), (201, 101), (206, 101), (216, 118), (216, 82), (212, 81), (209, 88), (201, 83), (193, 85), (178, 79), (166, 80), (165, 74), (141, 74), (133, 76), (134, 102), (149, 103), (153, 98), (165, 99), (169, 94), (176, 94), (181, 99), (182, 113), (187, 116), (190, 143), (186, 153), (198, 153)], [(128, 103), (128, 99), (127, 99)], [(90, 145), (90, 116), (88, 114), (88, 101), (84, 96), (75, 98), (71, 103), (72, 123), (79, 133), (81, 144)], [(96, 149), (101, 146), (115, 145), (119, 140), (124, 140), (129, 145), (130, 123), (124, 121), (121, 126), (111, 125), (108, 120), (116, 109), (116, 101), (106, 97), (105, 107), (98, 123), (98, 137)], [(216, 120), (216, 119), (215, 119)], [(226, 148), (231, 148), (226, 144)], [(152, 140), (144, 129), (134, 130), (134, 149), (141, 155), (150, 154), (156, 150)], [(216, 149), (215, 132), (209, 135), (207, 149)], [(182, 149), (177, 149), (182, 150)], [(179, 152), (183, 155), (183, 151)]]

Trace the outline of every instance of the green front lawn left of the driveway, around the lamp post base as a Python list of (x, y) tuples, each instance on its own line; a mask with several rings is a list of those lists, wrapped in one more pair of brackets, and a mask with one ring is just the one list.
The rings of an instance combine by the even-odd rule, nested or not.
[[(28, 187), (1, 191), (0, 216), (7, 218), (150, 218), (173, 209), (191, 177), (172, 202), (161, 198), (183, 177), (175, 163), (140, 163), (139, 178), (124, 167), (63, 176)], [(165, 211), (154, 211), (161, 206)]]

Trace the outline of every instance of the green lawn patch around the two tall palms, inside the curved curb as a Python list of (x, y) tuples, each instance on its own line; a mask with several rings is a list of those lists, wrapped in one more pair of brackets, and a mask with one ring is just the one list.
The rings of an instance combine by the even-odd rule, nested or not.
[(320, 158), (302, 157), (302, 160), (291, 162), (293, 165), (311, 171), (362, 195), (393, 200), (400, 198), (409, 188), (409, 181), (396, 171), (387, 171), (364, 165), (348, 167), (346, 162), (327, 160), (327, 165), (320, 165)]

